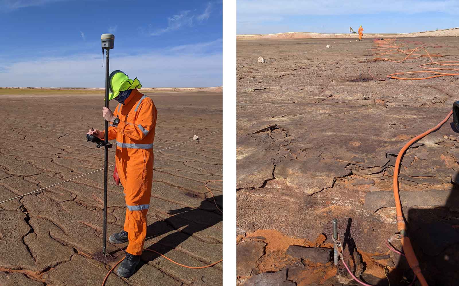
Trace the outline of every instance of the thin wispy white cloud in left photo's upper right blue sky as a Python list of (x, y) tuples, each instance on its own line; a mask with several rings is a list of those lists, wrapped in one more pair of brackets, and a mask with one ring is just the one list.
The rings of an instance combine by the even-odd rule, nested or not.
[[(190, 10), (181, 11), (179, 14), (173, 15), (172, 17), (168, 17), (168, 27), (157, 29), (154, 32), (151, 32), (151, 36), (158, 36), (166, 32), (171, 32), (174, 30), (178, 30), (183, 27), (192, 27), (195, 18), (199, 22), (204, 22), (209, 19), (210, 13), (212, 10), (212, 3), (207, 3), (206, 9), (198, 15), (192, 14)], [(149, 25), (151, 27), (151, 25)]]

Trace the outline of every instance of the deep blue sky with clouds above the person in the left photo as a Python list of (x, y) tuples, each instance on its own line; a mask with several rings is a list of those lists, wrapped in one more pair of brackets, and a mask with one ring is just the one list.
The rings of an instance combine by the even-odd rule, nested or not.
[(106, 32), (144, 87), (222, 85), (221, 0), (0, 0), (0, 23), (0, 86), (105, 86)]

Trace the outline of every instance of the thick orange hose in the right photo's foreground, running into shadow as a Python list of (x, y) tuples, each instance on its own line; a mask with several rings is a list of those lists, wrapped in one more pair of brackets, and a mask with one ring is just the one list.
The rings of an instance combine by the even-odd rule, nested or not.
[(451, 114), (453, 114), (452, 110), (448, 113), (445, 119), (442, 120), (442, 122), (437, 124), (437, 126), (409, 140), (408, 143), (406, 143), (405, 146), (403, 146), (400, 152), (398, 152), (397, 160), (395, 161), (395, 166), (394, 166), (393, 190), (394, 190), (395, 207), (397, 208), (397, 228), (402, 236), (403, 252), (405, 253), (406, 259), (408, 260), (409, 266), (414, 271), (414, 274), (416, 275), (416, 277), (418, 277), (418, 280), (420, 281), (421, 286), (428, 286), (428, 284), (427, 284), (427, 281), (425, 281), (425, 278), (421, 273), (419, 262), (418, 262), (418, 259), (416, 258), (416, 255), (414, 254), (413, 246), (411, 245), (409, 237), (405, 236), (406, 224), (403, 219), (402, 203), (400, 201), (400, 195), (399, 195), (399, 189), (398, 189), (398, 173), (400, 172), (400, 163), (402, 161), (403, 155), (405, 151), (409, 148), (409, 146), (411, 146), (417, 140), (420, 140), (426, 135), (439, 129), (445, 122), (448, 121), (448, 119), (451, 117)]

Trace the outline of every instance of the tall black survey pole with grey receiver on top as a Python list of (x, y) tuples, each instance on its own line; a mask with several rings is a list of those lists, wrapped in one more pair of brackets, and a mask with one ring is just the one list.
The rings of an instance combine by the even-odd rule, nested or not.
[[(115, 36), (113, 34), (102, 34), (102, 57), (105, 51), (105, 107), (108, 108), (108, 90), (110, 82), (108, 80), (110, 49), (113, 49)], [(103, 58), (102, 58), (103, 64)], [(107, 246), (107, 176), (108, 176), (108, 148), (112, 148), (112, 144), (108, 143), (108, 121), (105, 120), (105, 140), (100, 143), (100, 146), (105, 147), (104, 152), (104, 227), (103, 227), (103, 248), (102, 251), (106, 255)]]

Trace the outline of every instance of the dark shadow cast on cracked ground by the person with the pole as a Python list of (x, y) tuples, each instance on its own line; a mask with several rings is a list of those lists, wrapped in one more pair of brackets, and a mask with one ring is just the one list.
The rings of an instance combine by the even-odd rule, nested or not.
[[(215, 202), (220, 210), (222, 208), (223, 196), (215, 196)], [(212, 207), (213, 205), (213, 207)], [(185, 242), (190, 236), (197, 232), (201, 232), (208, 227), (212, 227), (222, 221), (223, 215), (216, 208), (213, 199), (203, 200), (197, 208), (184, 207), (177, 210), (169, 210), (170, 217), (155, 221), (147, 227), (145, 244), (148, 245), (148, 240), (162, 236), (173, 231), (165, 237), (162, 237), (156, 243), (148, 246), (146, 249), (155, 250), (167, 256), (167, 253), (172, 249)], [(196, 220), (196, 218), (198, 218)], [(179, 229), (179, 231), (175, 231)], [(212, 238), (210, 238), (212, 239)], [(157, 259), (160, 255), (151, 251), (143, 251), (136, 272), (146, 263)], [(180, 262), (180, 261), (178, 261)], [(214, 262), (214, 261), (212, 261)], [(183, 262), (182, 262), (183, 263)], [(185, 263), (186, 264), (186, 263)]]

